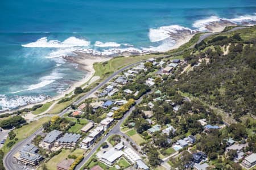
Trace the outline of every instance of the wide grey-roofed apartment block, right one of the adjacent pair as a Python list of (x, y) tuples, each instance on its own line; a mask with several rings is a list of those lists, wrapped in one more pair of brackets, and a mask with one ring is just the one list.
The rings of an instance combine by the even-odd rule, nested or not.
[(77, 141), (81, 138), (80, 134), (65, 133), (63, 137), (57, 139), (55, 147), (72, 148), (76, 146)]

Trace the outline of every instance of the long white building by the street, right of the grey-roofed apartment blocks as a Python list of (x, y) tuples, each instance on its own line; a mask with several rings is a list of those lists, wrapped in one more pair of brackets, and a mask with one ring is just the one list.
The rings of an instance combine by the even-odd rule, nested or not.
[(97, 126), (93, 129), (90, 134), (85, 137), (80, 143), (80, 147), (86, 149), (93, 145), (93, 143), (104, 133), (104, 128), (102, 126)]

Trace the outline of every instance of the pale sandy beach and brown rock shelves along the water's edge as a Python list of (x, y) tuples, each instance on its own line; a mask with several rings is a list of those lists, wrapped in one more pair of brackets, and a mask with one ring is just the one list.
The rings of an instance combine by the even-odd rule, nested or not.
[[(230, 26), (230, 25), (236, 25), (236, 24), (216, 22), (216, 23), (212, 23), (212, 24), (208, 25), (207, 28), (210, 30), (210, 32), (215, 33), (215, 32), (223, 31), (226, 26)], [(175, 41), (176, 41), (175, 45), (171, 46), (168, 50), (179, 48), (181, 45), (183, 45), (183, 44), (187, 43), (189, 40), (191, 40), (192, 37), (196, 33), (197, 32), (193, 32), (193, 33), (190, 33), (190, 34), (189, 33), (184, 33), (184, 35), (181, 35), (181, 36), (179, 35), (179, 37), (177, 37), (177, 39), (175, 39)], [(89, 82), (89, 80), (93, 78), (94, 73), (95, 73), (95, 70), (93, 68), (94, 63), (96, 63), (96, 62), (105, 62), (105, 61), (108, 61), (109, 59), (112, 58), (112, 57), (108, 57), (108, 56), (93, 55), (93, 54), (84, 53), (84, 52), (74, 52), (74, 53), (76, 53), (76, 56), (64, 56), (63, 58), (66, 59), (68, 62), (77, 63), (79, 65), (79, 69), (87, 71), (86, 76), (83, 79), (81, 79), (78, 82), (75, 82), (75, 83), (71, 84), (71, 86), (68, 88), (68, 90), (63, 91), (59, 95), (49, 97), (48, 99), (46, 99), (44, 101), (41, 101), (39, 103), (31, 103), (31, 104), (24, 105), (24, 106), (16, 108), (16, 109), (12, 109), (10, 111), (3, 111), (0, 114), (13, 113), (13, 112), (18, 111), (20, 109), (31, 108), (34, 105), (45, 104), (45, 103), (48, 103), (48, 102), (51, 102), (51, 101), (59, 100), (62, 97), (70, 94), (71, 92), (73, 92), (76, 87), (82, 86), (83, 84), (85, 84), (86, 82)], [(149, 53), (143, 53), (143, 54), (149, 54)], [(143, 55), (143, 54), (141, 54), (141, 55)], [(131, 54), (127, 54), (127, 56), (130, 56), (130, 55)], [(83, 86), (83, 88), (84, 87), (86, 87), (86, 85)]]

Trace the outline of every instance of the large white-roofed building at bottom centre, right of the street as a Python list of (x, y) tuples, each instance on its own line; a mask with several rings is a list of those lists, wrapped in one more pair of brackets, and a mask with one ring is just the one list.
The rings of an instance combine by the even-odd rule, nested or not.
[(107, 165), (113, 165), (115, 160), (121, 158), (123, 152), (120, 150), (116, 150), (114, 147), (110, 148), (110, 150), (106, 151), (104, 154), (101, 152), (97, 153), (97, 157), (101, 162), (104, 162)]

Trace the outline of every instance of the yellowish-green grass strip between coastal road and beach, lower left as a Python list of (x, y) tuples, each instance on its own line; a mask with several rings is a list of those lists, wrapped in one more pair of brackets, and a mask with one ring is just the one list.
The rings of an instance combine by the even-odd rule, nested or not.
[[(15, 138), (18, 138), (18, 141), (15, 141), (15, 142), (18, 143), (19, 141), (26, 139), (32, 133), (38, 130), (45, 122), (48, 122), (49, 120), (51, 120), (51, 117), (43, 117), (43, 118), (40, 118), (38, 121), (34, 121), (28, 125), (22, 126), (22, 128), (14, 129), (14, 133), (16, 134)], [(11, 150), (11, 147), (6, 146), (7, 143), (9, 142), (10, 140), (9, 138), (7, 138), (5, 145), (3, 145), (2, 147), (2, 151), (5, 152), (5, 154)]]

